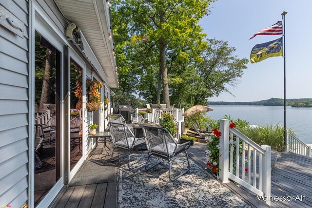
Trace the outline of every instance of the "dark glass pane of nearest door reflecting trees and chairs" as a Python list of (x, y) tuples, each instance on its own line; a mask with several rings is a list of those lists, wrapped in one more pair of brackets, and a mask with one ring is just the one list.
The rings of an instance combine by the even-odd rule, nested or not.
[(35, 35), (35, 206), (61, 177), (61, 53)]

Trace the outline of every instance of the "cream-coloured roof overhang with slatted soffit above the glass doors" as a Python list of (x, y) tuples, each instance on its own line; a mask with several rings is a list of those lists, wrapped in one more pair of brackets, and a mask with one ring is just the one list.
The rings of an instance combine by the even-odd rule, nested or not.
[[(65, 18), (74, 22), (80, 28), (83, 37), (87, 41), (88, 48), (91, 51), (85, 48), (82, 52), (89, 58), (100, 76), (103, 76), (102, 73), (105, 74), (109, 87), (117, 88), (117, 67), (113, 54), (114, 43), (113, 38), (109, 38), (109, 34), (112, 36), (112, 30), (109, 9), (105, 6), (106, 1), (55, 1)], [(92, 58), (92, 55), (95, 58)], [(104, 81), (106, 80), (104, 79)]]

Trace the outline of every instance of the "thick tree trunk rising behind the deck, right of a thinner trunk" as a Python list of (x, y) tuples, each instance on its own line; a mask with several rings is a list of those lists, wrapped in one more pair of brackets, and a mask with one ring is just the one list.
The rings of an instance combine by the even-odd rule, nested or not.
[[(165, 22), (165, 13), (163, 10), (160, 11), (160, 22)], [(164, 38), (159, 38), (159, 52), (160, 52), (160, 71), (162, 76), (162, 95), (166, 107), (170, 107), (170, 98), (169, 98), (169, 85), (168, 85), (168, 76), (167, 76), (167, 61), (166, 61), (166, 44)]]

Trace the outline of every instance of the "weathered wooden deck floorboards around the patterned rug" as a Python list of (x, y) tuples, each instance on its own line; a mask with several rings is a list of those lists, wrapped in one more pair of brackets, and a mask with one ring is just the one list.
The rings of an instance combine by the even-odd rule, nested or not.
[[(108, 145), (112, 147), (109, 142)], [(98, 148), (88, 160), (102, 160), (107, 163), (109, 155), (103, 148), (104, 144), (99, 143)], [(205, 148), (202, 143), (195, 143), (188, 153), (198, 164), (206, 167)], [(136, 151), (133, 153), (143, 153)], [(123, 154), (122, 151), (114, 153), (114, 157)], [(110, 165), (118, 166), (118, 163)], [(312, 207), (312, 158), (296, 155), (293, 153), (272, 153), (272, 196), (292, 196), (291, 202), (274, 201), (271, 203), (273, 208), (311, 208)], [(231, 189), (239, 197), (248, 201), (254, 208), (269, 207), (264, 201), (259, 201), (257, 196), (233, 182), (223, 184)], [(294, 201), (297, 195), (306, 195), (305, 201)], [(117, 174), (116, 180), (109, 183), (88, 184), (83, 186), (69, 187), (59, 197), (54, 208), (115, 208), (117, 206)]]

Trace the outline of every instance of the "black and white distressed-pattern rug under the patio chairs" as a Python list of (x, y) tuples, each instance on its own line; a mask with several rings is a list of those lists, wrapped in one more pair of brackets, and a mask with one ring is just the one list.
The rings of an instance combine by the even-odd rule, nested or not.
[[(133, 154), (132, 163), (147, 160), (147, 154)], [(153, 159), (153, 160), (152, 160)], [(149, 164), (159, 158), (151, 157)], [(249, 204), (224, 187), (207, 170), (190, 158), (191, 169), (169, 182), (168, 162), (146, 171), (144, 167), (129, 170), (120, 160), (117, 185), (117, 208), (249, 208)], [(187, 167), (181, 153), (172, 160), (172, 178)], [(174, 174), (176, 173), (176, 174)]]

